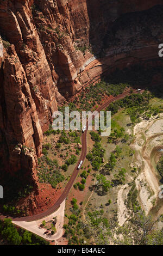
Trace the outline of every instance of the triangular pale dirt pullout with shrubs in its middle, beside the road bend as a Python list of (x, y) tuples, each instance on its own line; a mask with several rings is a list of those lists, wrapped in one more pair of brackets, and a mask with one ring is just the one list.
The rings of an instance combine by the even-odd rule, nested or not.
[[(26, 221), (12, 221), (12, 223), (16, 224), (17, 226), (27, 229), (29, 231), (31, 231), (32, 233), (39, 235), (41, 237), (43, 237), (44, 239), (47, 239), (49, 241), (55, 240), (55, 245), (58, 245), (58, 239), (60, 239), (60, 237), (63, 234), (63, 225), (64, 225), (64, 215), (65, 215), (65, 200), (64, 202), (61, 203), (60, 208), (55, 211), (53, 214), (42, 218), (40, 220), (37, 221), (31, 221), (31, 222), (26, 222)], [(40, 228), (40, 224), (42, 223), (42, 221), (51, 221), (53, 220), (53, 217), (57, 217), (57, 223), (55, 225), (55, 228), (57, 229), (57, 232), (54, 235), (47, 235), (47, 234), (43, 234), (45, 233), (46, 229), (45, 228)]]

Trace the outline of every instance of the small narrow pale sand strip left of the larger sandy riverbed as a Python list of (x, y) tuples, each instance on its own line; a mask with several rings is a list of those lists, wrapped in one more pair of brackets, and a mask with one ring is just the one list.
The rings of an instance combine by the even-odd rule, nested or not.
[(118, 198), (117, 198), (117, 204), (118, 204), (118, 224), (123, 225), (124, 222), (126, 222), (128, 218), (128, 209), (126, 205), (124, 204), (124, 199), (127, 198), (128, 194), (128, 185), (123, 185), (120, 190), (118, 191)]

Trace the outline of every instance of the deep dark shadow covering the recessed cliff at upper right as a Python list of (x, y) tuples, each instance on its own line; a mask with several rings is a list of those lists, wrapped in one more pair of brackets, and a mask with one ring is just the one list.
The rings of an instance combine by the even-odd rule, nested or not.
[[(162, 97), (163, 59), (158, 55), (158, 46), (163, 42), (163, 5), (130, 13), (116, 8), (113, 4), (110, 9), (105, 1), (95, 1), (93, 6), (87, 1), (89, 41), (92, 52), (103, 64), (102, 79), (111, 84), (127, 83), (133, 88), (147, 88), (155, 96)], [(106, 56), (118, 54), (121, 58), (113, 58), (115, 62), (103, 62)]]

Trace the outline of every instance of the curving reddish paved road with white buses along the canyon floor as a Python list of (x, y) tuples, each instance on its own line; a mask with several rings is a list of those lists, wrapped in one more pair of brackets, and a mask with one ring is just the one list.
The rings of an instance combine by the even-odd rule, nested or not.
[[(137, 90), (134, 90), (134, 93), (137, 93)], [(120, 100), (129, 94), (130, 94), (130, 90), (127, 90), (126, 92), (124, 92), (118, 96), (112, 97), (112, 99), (110, 99), (109, 101), (105, 102), (102, 106), (97, 108), (96, 111), (98, 111), (98, 112), (102, 111), (102, 109), (105, 109), (111, 102), (113, 102), (115, 100)], [(88, 123), (88, 121), (87, 121), (87, 123)], [(77, 175), (79, 173), (79, 170), (77, 168), (79, 166), (80, 161), (83, 160), (83, 162), (84, 162), (84, 160), (85, 160), (86, 151), (87, 151), (86, 134), (87, 134), (87, 129), (85, 130), (84, 133), (82, 133), (82, 153), (80, 155), (80, 159), (79, 159), (78, 163), (76, 164), (76, 167), (74, 168), (71, 178), (68, 181), (64, 191), (62, 192), (62, 194), (61, 194), (60, 198), (57, 200), (57, 202), (51, 208), (49, 208), (47, 211), (41, 212), (41, 214), (37, 214), (37, 215), (33, 215), (33, 216), (26, 216), (26, 217), (16, 217), (16, 218), (10, 217), (12, 220), (14, 220), (14, 221), (36, 221), (36, 220), (39, 220), (40, 218), (44, 218), (44, 217), (52, 214), (54, 211), (56, 211), (59, 208), (60, 204), (68, 196), (68, 193), (71, 190), (74, 180), (77, 178)], [(7, 216), (0, 215), (0, 218), (4, 218), (4, 217), (7, 217)]]

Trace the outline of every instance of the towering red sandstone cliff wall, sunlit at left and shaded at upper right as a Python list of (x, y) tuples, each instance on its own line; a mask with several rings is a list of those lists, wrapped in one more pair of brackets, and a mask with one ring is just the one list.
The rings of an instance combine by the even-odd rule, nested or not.
[(147, 60), (160, 65), (158, 4), (163, 1), (0, 1), (2, 173), (23, 169), (39, 193), (35, 166), (57, 105), (106, 71)]

